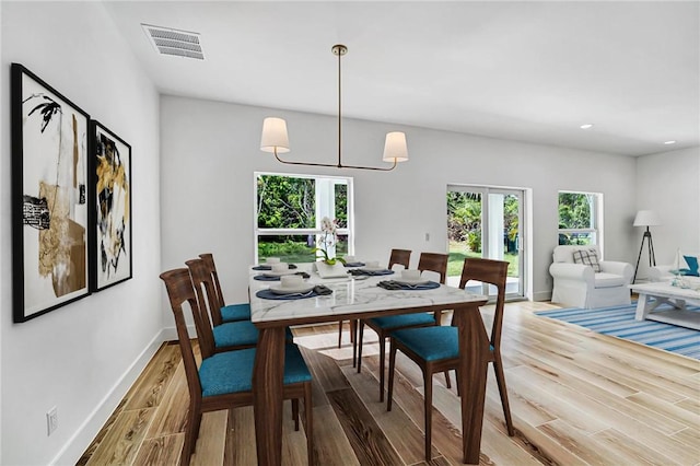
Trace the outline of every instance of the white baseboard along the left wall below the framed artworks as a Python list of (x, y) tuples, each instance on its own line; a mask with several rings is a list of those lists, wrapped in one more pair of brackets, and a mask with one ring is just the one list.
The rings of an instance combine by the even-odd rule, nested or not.
[[(78, 428), (73, 436), (71, 436), (66, 445), (58, 452), (56, 457), (49, 463), (50, 465), (74, 465), (78, 463), (78, 459), (85, 453), (90, 443), (104, 427), (129, 388), (131, 388), (133, 382), (141, 375), (141, 372), (143, 372), (145, 365), (151, 358), (153, 358), (153, 354), (155, 354), (163, 341), (167, 340), (164, 334), (165, 330), (161, 330), (153, 337), (143, 351), (141, 351), (141, 354), (131, 363), (117, 383), (107, 392), (90, 416), (88, 416), (85, 421)], [(177, 336), (175, 336), (175, 338), (177, 338)]]

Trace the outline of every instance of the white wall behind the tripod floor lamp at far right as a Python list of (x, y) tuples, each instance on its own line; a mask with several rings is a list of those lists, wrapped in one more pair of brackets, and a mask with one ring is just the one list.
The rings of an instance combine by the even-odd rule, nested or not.
[[(637, 173), (637, 208), (654, 210), (663, 223), (650, 228), (656, 264), (672, 265), (677, 248), (700, 254), (700, 147), (641, 156)], [(634, 230), (639, 254), (644, 229)], [(639, 276), (645, 278), (648, 269), (645, 244)]]

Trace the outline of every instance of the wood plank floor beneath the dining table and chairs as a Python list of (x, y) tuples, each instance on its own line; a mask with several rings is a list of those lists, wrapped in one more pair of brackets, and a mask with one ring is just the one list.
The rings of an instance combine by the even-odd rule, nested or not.
[[(517, 432), (505, 433), (489, 369), (480, 464), (700, 465), (700, 362), (533, 315), (551, 307), (506, 305), (502, 351)], [(489, 307), (483, 316), (490, 323)], [(362, 374), (349, 341), (337, 349), (337, 325), (294, 334), (314, 375), (318, 465), (425, 464), (422, 377), (412, 362), (397, 359), (395, 407), (386, 412), (374, 334), (365, 333)], [(79, 465), (176, 465), (188, 397), (183, 371), (179, 348), (164, 345)], [(434, 377), (430, 464), (458, 465), (459, 401), (443, 383)], [(283, 464), (303, 465), (303, 429), (294, 432), (288, 405), (284, 411)], [(205, 415), (192, 464), (256, 464), (252, 408)]]

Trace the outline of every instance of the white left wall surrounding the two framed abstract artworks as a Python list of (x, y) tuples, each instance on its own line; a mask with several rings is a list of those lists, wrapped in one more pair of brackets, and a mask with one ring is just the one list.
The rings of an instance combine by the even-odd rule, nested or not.
[[(159, 95), (101, 3), (3, 1), (1, 20), (0, 464), (74, 464), (160, 343)], [(11, 313), (13, 61), (132, 147), (133, 279), (23, 324)]]

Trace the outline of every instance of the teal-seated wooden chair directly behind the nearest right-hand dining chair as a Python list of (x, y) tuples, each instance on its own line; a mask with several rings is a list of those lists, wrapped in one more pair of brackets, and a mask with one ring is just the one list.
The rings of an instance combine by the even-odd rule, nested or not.
[[(445, 283), (447, 279), (447, 254), (439, 253), (421, 253), (418, 260), (418, 269), (421, 271), (430, 270), (440, 273), (440, 282)], [(358, 337), (358, 373), (362, 370), (362, 339), (364, 336), (364, 326), (368, 325), (380, 337), (380, 401), (384, 401), (384, 359), (386, 356), (385, 340), (389, 334), (400, 328), (427, 327), (440, 325), (440, 312), (438, 313), (417, 313), (390, 315), (386, 317), (375, 317), (361, 319), (359, 324), (360, 335)], [(445, 372), (447, 384), (450, 385), (450, 376)]]

